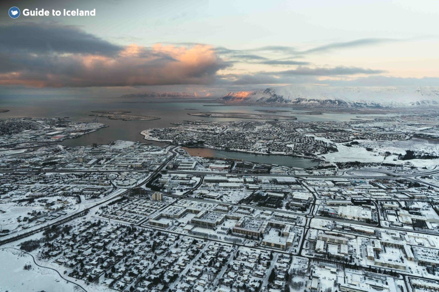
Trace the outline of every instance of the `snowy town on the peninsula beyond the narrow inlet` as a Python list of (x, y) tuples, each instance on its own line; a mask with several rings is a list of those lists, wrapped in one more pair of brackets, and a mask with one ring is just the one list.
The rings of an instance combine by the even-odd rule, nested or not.
[[(420, 166), (419, 158), (439, 160), (438, 115), (366, 118), (347, 122), (303, 121), (186, 121), (142, 132), (145, 139), (188, 147), (207, 147), (256, 154), (317, 158), (329, 164), (390, 164)], [(415, 139), (412, 139), (415, 138)], [(422, 142), (422, 141), (421, 141)], [(409, 152), (406, 152), (409, 150)], [(416, 153), (415, 153), (416, 152)], [(432, 165), (434, 165), (434, 163)]]

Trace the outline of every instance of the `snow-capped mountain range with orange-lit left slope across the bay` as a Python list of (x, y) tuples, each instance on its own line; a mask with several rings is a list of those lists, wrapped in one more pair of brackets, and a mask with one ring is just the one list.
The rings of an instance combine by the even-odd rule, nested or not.
[(439, 106), (439, 87), (288, 85), (258, 91), (230, 92), (220, 100), (225, 103), (282, 103), (316, 107)]

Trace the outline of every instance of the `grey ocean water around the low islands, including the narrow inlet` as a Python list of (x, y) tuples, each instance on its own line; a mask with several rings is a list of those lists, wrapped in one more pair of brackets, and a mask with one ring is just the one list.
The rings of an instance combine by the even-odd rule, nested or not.
[[(195, 112), (218, 112), (218, 113), (249, 113), (276, 116), (297, 117), (299, 121), (349, 121), (361, 118), (358, 114), (327, 114), (308, 115), (307, 111), (294, 110), (282, 107), (261, 107), (261, 106), (224, 106), (213, 101), (200, 102), (138, 102), (121, 98), (56, 98), (56, 97), (2, 97), (1, 109), (9, 112), (0, 113), (0, 118), (9, 117), (69, 117), (73, 121), (92, 121), (91, 111), (129, 111), (134, 115), (158, 117), (157, 120), (134, 120), (124, 121), (98, 117), (98, 122), (105, 123), (108, 127), (99, 131), (83, 135), (76, 139), (63, 141), (66, 146), (85, 146), (92, 143), (107, 144), (114, 140), (139, 141), (142, 143), (153, 143), (164, 145), (164, 143), (147, 141), (140, 134), (142, 130), (156, 127), (169, 127), (172, 123), (184, 120), (207, 120), (207, 121), (233, 121), (248, 120), (240, 118), (211, 118), (190, 116), (188, 113)], [(278, 111), (266, 113), (261, 111)], [(364, 118), (372, 115), (364, 115)], [(373, 115), (374, 117), (385, 115)], [(198, 151), (200, 152), (200, 151)], [(204, 154), (205, 153), (205, 154)], [(194, 154), (194, 153), (192, 153)], [(194, 154), (196, 155), (196, 154)], [(253, 162), (295, 166), (306, 168), (316, 165), (310, 159), (280, 156), (254, 155), (234, 151), (216, 151), (209, 149), (201, 151), (201, 156), (213, 156), (218, 158), (242, 159)], [(268, 158), (269, 157), (269, 158)]]

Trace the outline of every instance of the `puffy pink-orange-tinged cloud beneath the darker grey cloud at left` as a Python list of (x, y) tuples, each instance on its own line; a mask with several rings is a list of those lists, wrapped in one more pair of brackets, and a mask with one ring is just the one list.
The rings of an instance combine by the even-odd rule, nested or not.
[(227, 66), (212, 47), (130, 45), (116, 56), (51, 54), (41, 67), (0, 73), (2, 85), (33, 87), (209, 84)]

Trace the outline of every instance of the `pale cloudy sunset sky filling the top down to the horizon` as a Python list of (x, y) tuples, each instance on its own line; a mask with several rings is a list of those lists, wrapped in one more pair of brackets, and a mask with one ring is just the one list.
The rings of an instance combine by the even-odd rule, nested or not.
[(439, 86), (437, 0), (16, 0), (0, 11), (0, 95)]

